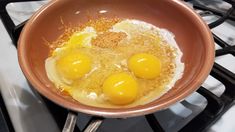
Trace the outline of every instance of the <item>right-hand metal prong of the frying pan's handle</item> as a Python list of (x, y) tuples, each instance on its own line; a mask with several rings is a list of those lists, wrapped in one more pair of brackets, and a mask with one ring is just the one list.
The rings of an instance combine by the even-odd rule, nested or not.
[(88, 123), (88, 126), (85, 128), (84, 132), (96, 132), (100, 127), (104, 118), (102, 117), (92, 117), (91, 121)]

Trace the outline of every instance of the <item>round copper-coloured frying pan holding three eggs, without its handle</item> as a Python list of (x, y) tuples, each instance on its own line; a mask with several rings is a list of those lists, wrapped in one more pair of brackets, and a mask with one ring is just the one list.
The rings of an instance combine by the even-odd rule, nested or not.
[[(97, 16), (139, 19), (171, 31), (183, 52), (183, 77), (159, 99), (132, 108), (92, 107), (58, 92), (45, 72), (49, 53), (45, 40), (55, 41), (64, 25), (76, 26)], [(126, 118), (165, 109), (196, 91), (212, 68), (214, 42), (200, 16), (179, 0), (53, 0), (25, 25), (18, 41), (18, 58), (33, 88), (56, 104), (76, 112)]]

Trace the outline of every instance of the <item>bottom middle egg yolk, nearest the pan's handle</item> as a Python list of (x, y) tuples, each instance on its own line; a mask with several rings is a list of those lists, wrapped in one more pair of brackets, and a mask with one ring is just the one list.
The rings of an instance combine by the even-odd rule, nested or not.
[(104, 81), (103, 93), (111, 103), (125, 105), (136, 99), (138, 85), (127, 73), (113, 74)]

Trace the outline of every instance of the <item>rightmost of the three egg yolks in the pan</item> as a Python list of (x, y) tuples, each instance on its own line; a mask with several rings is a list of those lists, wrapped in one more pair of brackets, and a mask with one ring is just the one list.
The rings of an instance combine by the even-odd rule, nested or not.
[(143, 79), (153, 79), (161, 72), (161, 61), (151, 54), (140, 53), (131, 56), (128, 60), (128, 68)]

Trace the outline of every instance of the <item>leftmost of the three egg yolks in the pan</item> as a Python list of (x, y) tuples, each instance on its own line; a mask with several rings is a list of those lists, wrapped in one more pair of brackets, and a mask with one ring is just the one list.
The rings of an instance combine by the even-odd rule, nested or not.
[(91, 59), (80, 53), (70, 53), (56, 61), (58, 73), (66, 79), (75, 80), (91, 70)]

